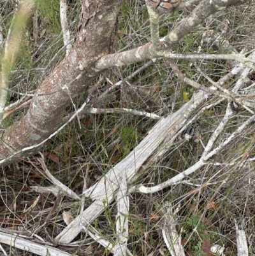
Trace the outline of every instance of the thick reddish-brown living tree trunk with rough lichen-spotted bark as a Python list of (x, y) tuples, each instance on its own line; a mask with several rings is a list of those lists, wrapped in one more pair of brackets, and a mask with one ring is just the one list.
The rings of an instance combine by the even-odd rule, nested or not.
[[(61, 64), (43, 80), (22, 120), (2, 137), (0, 158), (24, 147), (33, 146), (53, 133), (61, 124), (71, 98), (82, 93), (96, 73), (94, 61), (109, 54), (115, 22), (122, 0), (84, 0), (73, 49)], [(87, 65), (80, 70), (78, 63)]]

